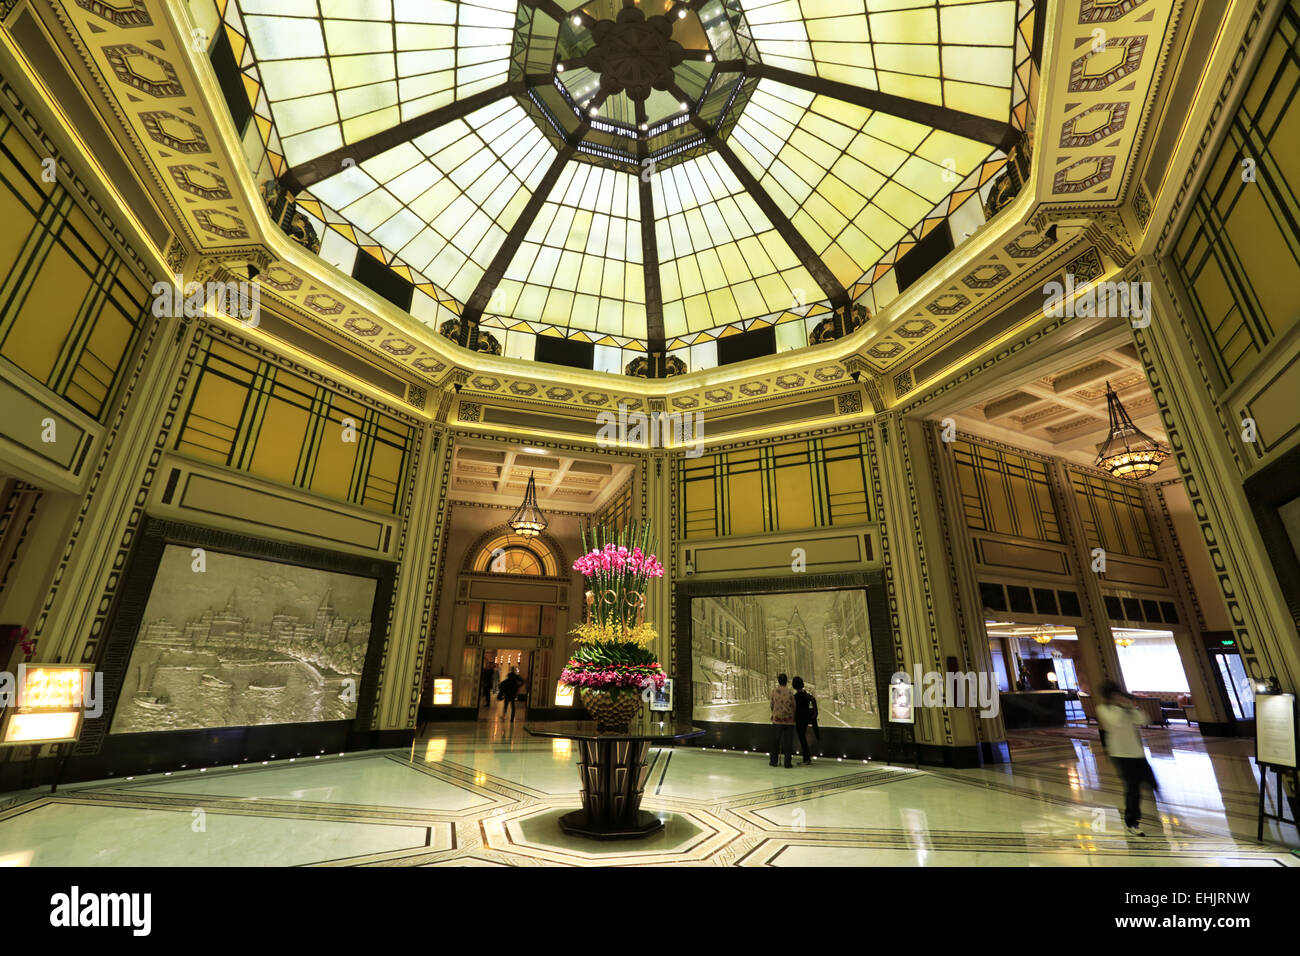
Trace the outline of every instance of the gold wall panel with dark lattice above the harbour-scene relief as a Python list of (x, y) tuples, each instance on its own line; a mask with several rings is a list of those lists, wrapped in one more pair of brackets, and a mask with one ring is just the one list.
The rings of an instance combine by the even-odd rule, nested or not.
[(200, 363), (177, 451), (385, 514), (396, 510), (410, 425), (211, 338)]

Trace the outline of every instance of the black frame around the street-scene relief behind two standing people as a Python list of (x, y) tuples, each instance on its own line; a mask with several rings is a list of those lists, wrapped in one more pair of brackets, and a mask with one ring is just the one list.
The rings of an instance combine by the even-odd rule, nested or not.
[[(771, 745), (771, 724), (732, 723), (725, 721), (696, 721), (693, 715), (694, 689), (692, 659), (692, 618), (690, 602), (697, 597), (724, 597), (733, 594), (788, 594), (810, 591), (864, 591), (867, 598), (867, 620), (871, 626), (871, 653), (876, 670), (876, 697), (880, 713), (880, 730), (867, 727), (823, 727), (820, 749), (828, 756), (845, 756), (852, 760), (888, 760), (889, 723), (887, 687), (889, 678), (900, 670), (894, 657), (889, 607), (885, 604), (884, 571), (849, 571), (840, 574), (783, 575), (779, 578), (742, 578), (715, 581), (679, 580), (677, 604), (677, 684), (679, 691), (675, 717), (679, 723), (702, 727), (706, 734), (684, 741), (693, 747), (724, 747), (738, 750), (767, 752)], [(776, 675), (771, 675), (775, 680)]]

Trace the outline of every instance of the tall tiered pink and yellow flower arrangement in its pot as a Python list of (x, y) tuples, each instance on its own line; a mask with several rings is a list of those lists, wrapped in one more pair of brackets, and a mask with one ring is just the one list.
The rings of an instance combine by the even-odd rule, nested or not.
[(666, 680), (645, 622), (646, 588), (664, 568), (650, 550), (649, 522), (582, 528), (582, 550), (573, 570), (588, 579), (586, 620), (569, 632), (577, 648), (560, 680), (581, 693), (599, 727), (625, 730), (641, 689)]

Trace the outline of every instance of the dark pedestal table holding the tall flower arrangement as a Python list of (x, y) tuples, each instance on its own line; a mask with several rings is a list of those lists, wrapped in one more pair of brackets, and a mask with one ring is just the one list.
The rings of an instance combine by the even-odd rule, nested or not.
[(705, 732), (670, 721), (634, 721), (627, 734), (598, 734), (593, 722), (536, 723), (524, 730), (534, 737), (577, 743), (582, 809), (560, 817), (560, 829), (598, 840), (640, 839), (663, 830), (662, 819), (641, 809), (650, 745)]

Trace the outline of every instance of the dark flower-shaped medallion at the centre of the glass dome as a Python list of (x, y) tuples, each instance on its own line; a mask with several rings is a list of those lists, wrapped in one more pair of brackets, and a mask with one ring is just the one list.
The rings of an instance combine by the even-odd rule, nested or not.
[(685, 51), (672, 39), (672, 25), (663, 14), (646, 17), (634, 0), (623, 0), (615, 20), (598, 20), (592, 25), (595, 46), (588, 51), (582, 65), (601, 77), (601, 91), (612, 96), (625, 92), (629, 99), (644, 101), (651, 90), (672, 86), (672, 70), (681, 65)]

